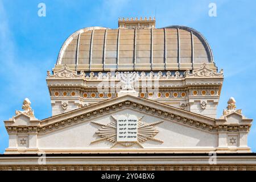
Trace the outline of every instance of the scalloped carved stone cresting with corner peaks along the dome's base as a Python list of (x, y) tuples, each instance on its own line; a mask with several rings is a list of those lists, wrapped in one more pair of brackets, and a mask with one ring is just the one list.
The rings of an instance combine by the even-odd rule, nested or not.
[(201, 68), (197, 70), (193, 70), (192, 73), (189, 73), (189, 71), (185, 72), (179, 72), (176, 71), (175, 73), (172, 73), (170, 71), (167, 71), (166, 73), (163, 73), (161, 71), (159, 72), (98, 72), (97, 74), (94, 72), (90, 72), (89, 75), (86, 75), (84, 71), (81, 71), (80, 74), (78, 74), (76, 71), (72, 71), (69, 69), (67, 65), (63, 65), (63, 67), (59, 71), (55, 71), (53, 75), (49, 71), (47, 71), (47, 80), (55, 80), (58, 78), (65, 78), (65, 79), (74, 79), (74, 78), (81, 78), (85, 81), (119, 81), (119, 75), (120, 74), (137, 74), (138, 81), (147, 79), (147, 80), (158, 80), (158, 81), (182, 81), (186, 78), (210, 78), (212, 80), (216, 78), (223, 78), (223, 71), (221, 70), (220, 73), (217, 73), (213, 69), (210, 69), (207, 67), (207, 64), (201, 65)]

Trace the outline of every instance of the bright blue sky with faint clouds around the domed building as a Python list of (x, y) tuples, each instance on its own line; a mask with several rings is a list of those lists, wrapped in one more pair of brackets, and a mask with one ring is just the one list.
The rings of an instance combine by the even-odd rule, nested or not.
[[(46, 4), (46, 17), (38, 4)], [(208, 15), (216, 3), (217, 16)], [(8, 147), (3, 120), (30, 98), (35, 116), (51, 116), (46, 71), (54, 67), (60, 47), (76, 30), (102, 26), (117, 28), (118, 17), (156, 16), (156, 27), (184, 25), (207, 38), (214, 60), (224, 69), (218, 116), (229, 97), (247, 118), (256, 119), (256, 1), (81, 1), (0, 0), (0, 153)], [(256, 125), (249, 146), (256, 152)]]

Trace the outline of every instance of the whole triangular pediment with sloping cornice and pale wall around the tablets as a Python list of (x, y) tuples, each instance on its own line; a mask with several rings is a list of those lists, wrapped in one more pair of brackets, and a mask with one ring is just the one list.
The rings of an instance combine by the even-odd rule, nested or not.
[[(130, 119), (135, 125), (129, 126)], [(134, 138), (122, 126), (129, 126), (127, 133), (135, 131)], [(38, 132), (39, 147), (54, 152), (217, 146), (214, 119), (130, 95), (44, 119)]]

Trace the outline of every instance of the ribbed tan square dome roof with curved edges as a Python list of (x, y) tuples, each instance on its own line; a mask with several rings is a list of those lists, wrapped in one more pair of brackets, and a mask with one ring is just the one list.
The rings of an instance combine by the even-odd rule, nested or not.
[(164, 28), (82, 28), (64, 42), (55, 70), (76, 71), (216, 70), (212, 49), (200, 32), (184, 26)]

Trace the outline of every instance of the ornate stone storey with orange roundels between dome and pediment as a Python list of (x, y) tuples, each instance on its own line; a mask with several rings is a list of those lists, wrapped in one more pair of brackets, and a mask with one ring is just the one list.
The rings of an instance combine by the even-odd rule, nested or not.
[[(53, 75), (48, 72), (47, 76), (47, 84), (52, 100), (52, 114), (61, 114), (63, 110), (65, 110), (64, 112), (69, 111), (69, 108), (78, 109), (81, 106), (115, 98), (121, 89), (130, 88), (134, 88), (139, 97), (164, 102), (170, 100), (171, 102), (168, 105), (175, 107), (179, 107), (187, 99), (189, 99), (189, 105), (194, 105), (189, 96), (200, 96), (202, 98), (218, 96), (222, 85), (222, 77), (216, 77), (216, 79), (217, 73), (214, 75), (215, 71), (207, 68), (207, 65), (202, 65), (202, 70), (198, 69), (197, 71), (210, 73), (205, 73), (204, 76), (201, 74), (200, 77), (192, 76), (192, 73), (183, 73), (183, 71), (80, 73), (72, 71), (67, 65), (63, 65), (63, 68), (54, 72)], [(214, 80), (212, 80), (211, 75), (213, 75)], [(197, 81), (193, 78), (197, 78)], [(204, 81), (201, 81), (201, 79)], [(158, 84), (155, 84), (155, 82), (158, 82)], [(217, 105), (218, 98), (213, 99), (214, 104)], [(179, 103), (173, 104), (177, 100), (179, 100)], [(61, 103), (66, 102), (70, 106), (68, 109), (63, 109), (58, 103), (59, 101)], [(191, 110), (192, 107), (181, 108)], [(211, 115), (206, 115), (214, 117), (216, 108), (212, 109), (213, 113)], [(199, 110), (195, 110), (195, 107), (193, 107), (191, 111), (198, 113)], [(204, 115), (204, 113), (201, 114)]]

